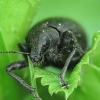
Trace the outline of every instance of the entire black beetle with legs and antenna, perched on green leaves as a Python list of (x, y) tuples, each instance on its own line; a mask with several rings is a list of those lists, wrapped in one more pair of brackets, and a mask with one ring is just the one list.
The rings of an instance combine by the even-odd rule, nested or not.
[[(0, 53), (20, 53), (28, 55), (33, 63), (42, 65), (63, 63), (62, 71), (58, 75), (62, 87), (68, 89), (64, 80), (67, 68), (71, 63), (77, 62), (84, 55), (87, 48), (87, 38), (79, 24), (67, 18), (50, 18), (39, 22), (31, 28), (26, 36), (26, 43), (19, 43), (22, 52), (8, 51)], [(28, 60), (16, 61), (6, 67), (8, 74), (23, 85), (36, 100), (41, 98), (31, 87), (12, 70), (27, 67)], [(74, 65), (75, 66), (75, 65)]]

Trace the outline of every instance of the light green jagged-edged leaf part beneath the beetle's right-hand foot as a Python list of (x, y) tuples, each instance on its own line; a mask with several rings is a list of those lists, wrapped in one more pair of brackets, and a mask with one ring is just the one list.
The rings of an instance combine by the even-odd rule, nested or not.
[[(53, 69), (53, 68), (52, 68)], [(57, 68), (56, 68), (57, 70)], [(55, 71), (56, 72), (56, 71)], [(74, 88), (77, 86), (80, 77), (78, 73), (80, 72), (80, 67), (76, 67), (68, 80), (66, 77), (66, 81), (68, 80), (69, 88), (62, 88), (60, 84), (60, 78), (57, 73), (47, 71), (45, 69), (40, 69), (39, 67), (35, 67), (34, 78), (41, 77), (41, 84), (43, 86), (48, 85), (48, 91), (53, 95), (53, 93), (57, 94), (58, 92), (63, 92), (65, 94), (65, 100), (69, 97), (69, 95), (73, 92)]]

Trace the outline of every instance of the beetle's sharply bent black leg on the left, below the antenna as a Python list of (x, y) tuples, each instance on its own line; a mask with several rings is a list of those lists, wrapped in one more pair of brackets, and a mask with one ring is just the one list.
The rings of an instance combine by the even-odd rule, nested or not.
[(25, 68), (28, 66), (27, 61), (17, 61), (14, 63), (11, 63), (6, 67), (6, 71), (8, 74), (13, 77), (15, 80), (17, 80), (22, 86), (24, 86), (30, 93), (33, 93), (36, 100), (41, 100), (38, 96), (38, 94), (35, 91), (35, 88), (29, 86), (24, 80), (22, 80), (19, 76), (12, 73), (13, 70), (20, 70), (22, 68)]

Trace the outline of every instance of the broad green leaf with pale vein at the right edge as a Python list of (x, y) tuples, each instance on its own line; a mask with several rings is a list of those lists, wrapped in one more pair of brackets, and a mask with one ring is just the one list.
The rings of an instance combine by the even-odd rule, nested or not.
[[(69, 100), (99, 100), (100, 95), (100, 32), (93, 37), (92, 48), (82, 59), (80, 81)], [(80, 62), (80, 63), (81, 63)]]

